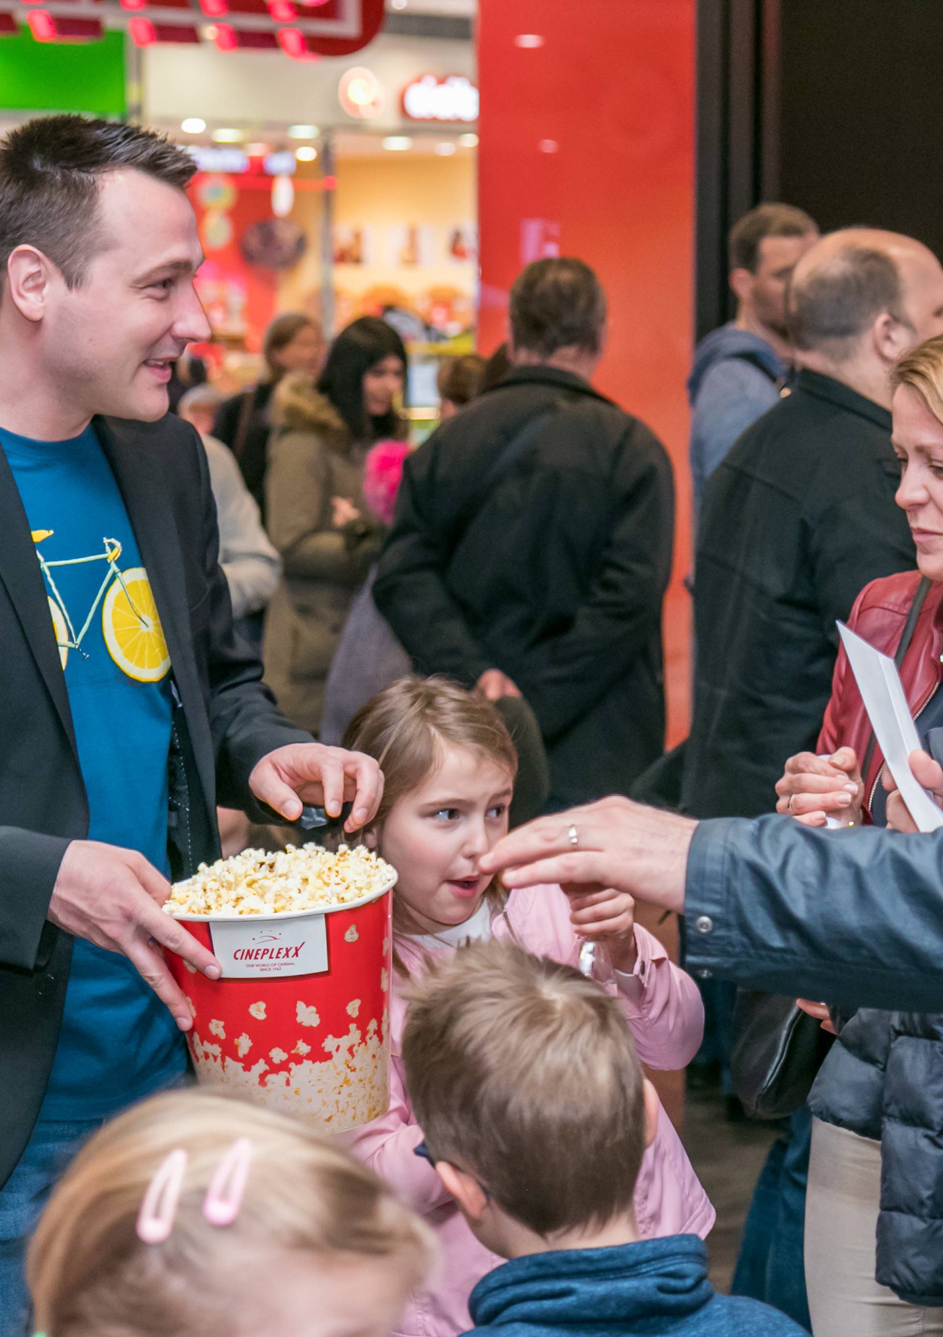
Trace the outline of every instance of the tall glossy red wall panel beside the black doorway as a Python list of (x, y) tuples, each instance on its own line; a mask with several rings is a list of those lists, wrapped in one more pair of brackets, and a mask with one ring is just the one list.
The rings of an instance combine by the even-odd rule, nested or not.
[[(540, 45), (518, 44), (521, 36)], [(667, 604), (669, 730), (688, 722), (688, 409), (695, 206), (695, 0), (480, 0), (481, 348), (540, 254), (600, 274), (610, 337), (598, 388), (642, 417), (675, 464)]]

